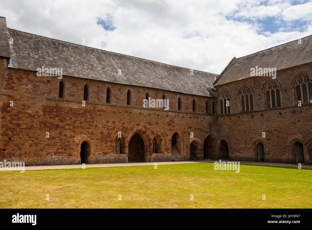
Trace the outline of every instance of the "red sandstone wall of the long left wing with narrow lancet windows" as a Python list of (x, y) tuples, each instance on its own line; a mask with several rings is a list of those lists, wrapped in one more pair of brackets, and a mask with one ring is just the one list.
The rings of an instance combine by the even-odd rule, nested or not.
[[(143, 108), (148, 91), (151, 98), (161, 99), (163, 90), (63, 77), (64, 99), (58, 98), (57, 77), (37, 77), (34, 71), (7, 69), (5, 93), (1, 95), (2, 135), (0, 161), (25, 161), (26, 165), (80, 163), (80, 144), (91, 146), (90, 163), (126, 162), (125, 154), (114, 154), (115, 137), (120, 131), (127, 152), (135, 132), (144, 139), (146, 161), (171, 161), (170, 141), (174, 130), (184, 136), (183, 159), (189, 159), (190, 132), (198, 142), (198, 156), (203, 157), (203, 141), (212, 127), (212, 116), (205, 114), (206, 100), (211, 98), (166, 91), (169, 110)], [(81, 106), (83, 86), (89, 87), (86, 106)], [(111, 86), (111, 102), (105, 103), (106, 87)], [(128, 89), (132, 104), (126, 105)], [(177, 107), (182, 98), (182, 111)], [(192, 100), (197, 111), (192, 112)], [(14, 106), (10, 107), (10, 100)], [(209, 108), (211, 109), (211, 108)], [(46, 138), (46, 132), (50, 137)], [(152, 154), (154, 136), (163, 140), (160, 154)], [(9, 140), (11, 138), (11, 140)], [(193, 140), (192, 140), (193, 141)]]

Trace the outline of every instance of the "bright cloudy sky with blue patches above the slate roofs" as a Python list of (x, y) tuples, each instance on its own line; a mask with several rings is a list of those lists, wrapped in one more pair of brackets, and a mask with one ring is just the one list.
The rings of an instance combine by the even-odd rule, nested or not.
[(233, 57), (312, 34), (312, 0), (0, 0), (0, 6), (8, 28), (216, 74)]

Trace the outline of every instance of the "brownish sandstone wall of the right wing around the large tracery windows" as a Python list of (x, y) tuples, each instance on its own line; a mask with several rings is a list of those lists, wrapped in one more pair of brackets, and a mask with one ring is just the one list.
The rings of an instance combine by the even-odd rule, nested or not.
[[(265, 109), (263, 88), (271, 77), (249, 78), (218, 86), (216, 95), (223, 89), (230, 94), (231, 115), (217, 116), (213, 131), (216, 145), (223, 138), (228, 143), (231, 159), (257, 161), (255, 142), (261, 140), (265, 161), (295, 163), (292, 141), (296, 140), (304, 145), (305, 163), (311, 163), (312, 105), (298, 107), (293, 89), (293, 80), (301, 72), (311, 76), (312, 64), (277, 72), (275, 80), (281, 87), (281, 108), (276, 109)], [(254, 91), (254, 112), (240, 112), (239, 89), (245, 84)], [(220, 112), (219, 103), (216, 112)], [(262, 132), (266, 132), (266, 138), (262, 138)]]

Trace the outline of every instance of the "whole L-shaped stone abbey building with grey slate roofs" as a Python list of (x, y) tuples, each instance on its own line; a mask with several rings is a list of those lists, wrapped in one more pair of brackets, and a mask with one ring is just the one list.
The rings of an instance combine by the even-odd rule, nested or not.
[(0, 161), (312, 163), (312, 35), (233, 58), (218, 75), (17, 31), (1, 17), (0, 61)]

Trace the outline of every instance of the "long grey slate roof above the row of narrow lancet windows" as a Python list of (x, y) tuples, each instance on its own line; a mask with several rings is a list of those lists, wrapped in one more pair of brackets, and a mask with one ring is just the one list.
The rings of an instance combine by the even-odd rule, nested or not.
[[(218, 74), (190, 70), (83, 45), (7, 29), (14, 39), (9, 67), (62, 68), (63, 75), (213, 97), (207, 87)], [(121, 69), (122, 75), (118, 75)]]

